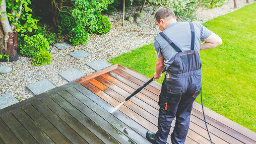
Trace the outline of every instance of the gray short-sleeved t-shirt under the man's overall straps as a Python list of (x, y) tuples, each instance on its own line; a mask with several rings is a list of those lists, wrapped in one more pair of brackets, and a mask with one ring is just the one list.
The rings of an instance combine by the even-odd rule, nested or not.
[[(195, 50), (200, 54), (200, 41), (208, 38), (212, 31), (208, 30), (201, 24), (193, 22), (195, 28)], [(190, 50), (191, 32), (188, 22), (176, 22), (170, 24), (164, 31), (164, 34), (176, 44), (181, 51)], [(164, 65), (166, 68), (173, 62), (177, 51), (163, 39), (161, 35), (155, 37), (155, 52), (156, 56), (164, 57)]]

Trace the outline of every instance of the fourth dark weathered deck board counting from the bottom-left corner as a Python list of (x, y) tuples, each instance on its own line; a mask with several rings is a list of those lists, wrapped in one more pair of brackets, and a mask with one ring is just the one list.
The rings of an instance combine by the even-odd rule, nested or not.
[(22, 107), (30, 118), (55, 142), (71, 143), (63, 134), (61, 134), (41, 113), (39, 113), (31, 104)]

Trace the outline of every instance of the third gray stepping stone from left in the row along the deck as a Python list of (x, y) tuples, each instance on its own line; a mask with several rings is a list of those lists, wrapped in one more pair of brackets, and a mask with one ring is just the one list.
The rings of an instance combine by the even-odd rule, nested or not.
[(61, 77), (63, 77), (65, 80), (69, 82), (85, 77), (85, 74), (82, 73), (82, 71), (78, 70), (77, 68), (68, 69), (66, 71), (59, 73), (58, 75), (60, 75)]

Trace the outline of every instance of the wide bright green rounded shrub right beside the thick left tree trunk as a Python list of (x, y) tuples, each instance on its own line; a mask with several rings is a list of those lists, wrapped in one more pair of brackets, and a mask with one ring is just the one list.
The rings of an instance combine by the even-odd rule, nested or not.
[(25, 56), (34, 56), (36, 52), (49, 48), (49, 42), (43, 35), (34, 35), (32, 37), (25, 37), (24, 44), (21, 46), (21, 54)]

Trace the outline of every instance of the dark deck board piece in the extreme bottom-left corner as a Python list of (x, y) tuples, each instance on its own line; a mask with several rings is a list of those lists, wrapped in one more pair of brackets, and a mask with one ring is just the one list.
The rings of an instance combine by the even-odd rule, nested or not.
[(21, 143), (14, 133), (8, 128), (5, 122), (0, 118), (0, 137), (5, 143)]

